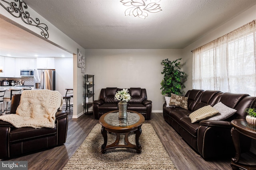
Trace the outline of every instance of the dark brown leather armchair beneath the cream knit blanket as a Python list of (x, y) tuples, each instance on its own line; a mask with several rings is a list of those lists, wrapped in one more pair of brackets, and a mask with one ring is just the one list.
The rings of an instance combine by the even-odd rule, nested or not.
[[(16, 113), (20, 95), (16, 94), (12, 97), (10, 113)], [(0, 120), (0, 159), (64, 144), (68, 130), (68, 113), (60, 110), (57, 111), (55, 117), (54, 128), (16, 128), (12, 124)]]

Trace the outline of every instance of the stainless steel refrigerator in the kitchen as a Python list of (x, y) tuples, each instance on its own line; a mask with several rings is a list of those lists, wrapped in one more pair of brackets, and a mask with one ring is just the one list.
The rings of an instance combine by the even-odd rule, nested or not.
[(55, 70), (34, 70), (34, 89), (55, 90)]

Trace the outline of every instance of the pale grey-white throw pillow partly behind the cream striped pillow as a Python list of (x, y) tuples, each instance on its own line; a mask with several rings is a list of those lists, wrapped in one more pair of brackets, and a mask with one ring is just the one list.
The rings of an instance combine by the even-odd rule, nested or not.
[(210, 117), (208, 120), (225, 120), (236, 113), (236, 109), (232, 109), (224, 105), (222, 102), (217, 103), (213, 108), (218, 110), (219, 113)]

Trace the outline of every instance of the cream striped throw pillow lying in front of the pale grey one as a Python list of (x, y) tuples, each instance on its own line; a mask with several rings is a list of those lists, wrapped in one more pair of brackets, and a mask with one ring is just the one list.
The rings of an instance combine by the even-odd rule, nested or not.
[(197, 121), (216, 115), (218, 112), (219, 112), (218, 110), (208, 105), (208, 106), (201, 107), (196, 111), (193, 111), (192, 113), (190, 113), (188, 117), (191, 119), (191, 123), (195, 123)]

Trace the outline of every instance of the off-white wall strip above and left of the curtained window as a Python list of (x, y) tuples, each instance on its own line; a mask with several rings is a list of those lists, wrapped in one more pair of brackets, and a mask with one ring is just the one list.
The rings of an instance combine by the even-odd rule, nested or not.
[(210, 41), (213, 41), (214, 39), (217, 39), (218, 37), (221, 37), (222, 35), (225, 35), (234, 29), (237, 29), (241, 27), (242, 25), (245, 25), (246, 23), (249, 23), (252, 20), (256, 19), (256, 5), (252, 6), (239, 16), (236, 16), (232, 20), (228, 21), (227, 23), (221, 25), (217, 29), (214, 29), (212, 32), (208, 33), (207, 35), (204, 35), (202, 38), (198, 39), (194, 43), (188, 45), (186, 48), (182, 49), (182, 58), (183, 62), (185, 63), (184, 71), (189, 75), (188, 80), (186, 81), (186, 89), (190, 90), (192, 89), (192, 71), (193, 71), (193, 54), (191, 50), (194, 50), (206, 43), (209, 43)]

